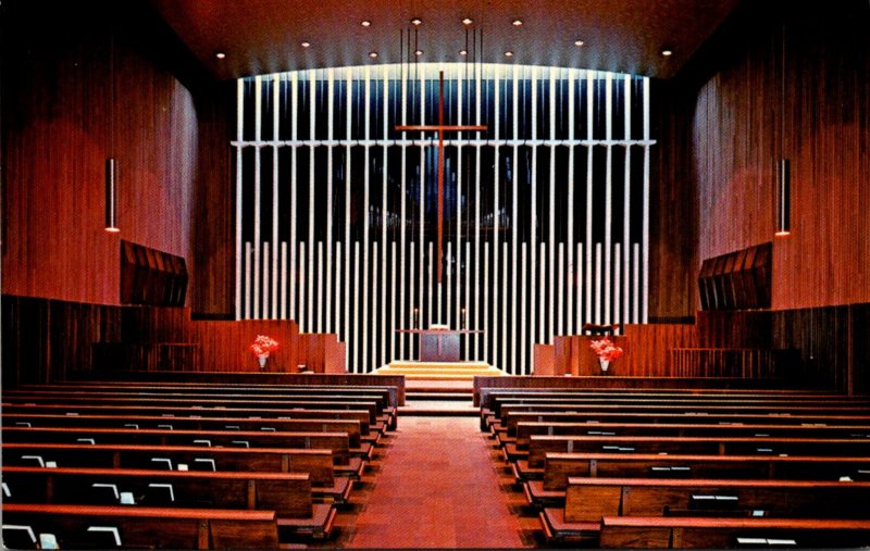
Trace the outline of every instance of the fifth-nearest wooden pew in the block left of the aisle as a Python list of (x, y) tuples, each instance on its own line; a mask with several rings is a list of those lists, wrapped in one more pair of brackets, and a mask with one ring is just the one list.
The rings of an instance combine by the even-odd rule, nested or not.
[(3, 415), (4, 427), (105, 427), (105, 428), (160, 428), (171, 426), (184, 430), (272, 430), (281, 433), (347, 433), (351, 453), (371, 459), (372, 444), (361, 441), (360, 423), (356, 419), (251, 419), (238, 417), (172, 417), (162, 415), (61, 415), (20, 414)]

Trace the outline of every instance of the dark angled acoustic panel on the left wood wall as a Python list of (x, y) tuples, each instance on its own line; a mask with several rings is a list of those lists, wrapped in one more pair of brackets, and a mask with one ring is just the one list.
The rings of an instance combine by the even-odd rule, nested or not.
[(184, 258), (121, 240), (121, 302), (183, 306), (187, 296)]

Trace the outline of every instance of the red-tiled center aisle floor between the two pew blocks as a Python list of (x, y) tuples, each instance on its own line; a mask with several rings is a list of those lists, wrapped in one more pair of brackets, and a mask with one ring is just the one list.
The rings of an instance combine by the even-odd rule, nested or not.
[(399, 418), (346, 548), (533, 547), (477, 417)]

